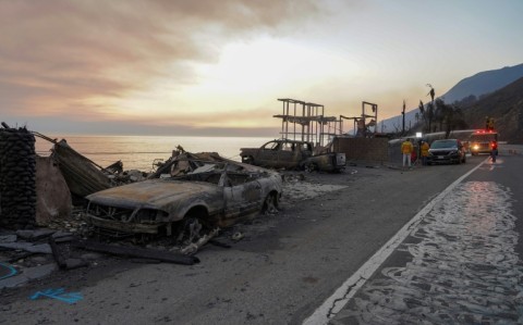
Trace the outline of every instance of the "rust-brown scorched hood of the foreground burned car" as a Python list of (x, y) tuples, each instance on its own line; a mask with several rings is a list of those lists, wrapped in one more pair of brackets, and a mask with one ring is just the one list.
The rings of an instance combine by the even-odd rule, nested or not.
[(172, 204), (194, 193), (216, 195), (220, 187), (204, 182), (180, 182), (172, 179), (149, 179), (101, 190), (86, 197), (87, 200), (112, 207), (135, 208)]

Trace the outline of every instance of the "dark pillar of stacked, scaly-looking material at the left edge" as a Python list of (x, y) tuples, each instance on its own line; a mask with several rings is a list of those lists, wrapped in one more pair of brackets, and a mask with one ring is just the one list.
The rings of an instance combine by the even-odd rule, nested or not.
[(29, 229), (35, 225), (35, 137), (25, 127), (0, 128), (0, 226)]

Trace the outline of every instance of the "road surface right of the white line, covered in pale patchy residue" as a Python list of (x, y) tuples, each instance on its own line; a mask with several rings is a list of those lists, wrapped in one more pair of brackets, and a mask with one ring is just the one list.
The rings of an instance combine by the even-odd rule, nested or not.
[(503, 149), (423, 212), (329, 324), (523, 323), (523, 157)]

